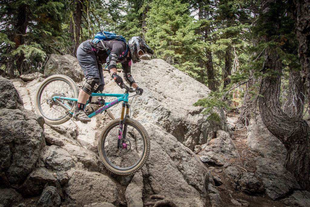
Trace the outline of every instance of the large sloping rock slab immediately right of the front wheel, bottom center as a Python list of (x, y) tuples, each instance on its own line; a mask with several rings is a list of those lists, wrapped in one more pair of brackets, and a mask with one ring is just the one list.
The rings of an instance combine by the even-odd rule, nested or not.
[(144, 124), (151, 152), (142, 168), (144, 203), (161, 195), (177, 206), (205, 206), (206, 169), (197, 156), (171, 134), (153, 124)]

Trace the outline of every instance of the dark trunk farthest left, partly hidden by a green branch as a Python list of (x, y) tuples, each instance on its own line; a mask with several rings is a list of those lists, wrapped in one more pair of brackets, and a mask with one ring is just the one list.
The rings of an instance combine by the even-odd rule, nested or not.
[[(26, 5), (21, 5), (18, 8), (18, 14), (17, 14), (17, 24), (16, 24), (16, 30), (15, 30), (15, 47), (16, 50), (20, 45), (23, 45), (25, 43), (24, 35), (26, 34), (27, 24), (26, 24)], [(19, 74), (23, 74), (27, 71), (27, 68), (24, 63), (25, 55), (23, 52), (20, 54), (15, 55), (16, 59), (16, 69), (19, 72)]]

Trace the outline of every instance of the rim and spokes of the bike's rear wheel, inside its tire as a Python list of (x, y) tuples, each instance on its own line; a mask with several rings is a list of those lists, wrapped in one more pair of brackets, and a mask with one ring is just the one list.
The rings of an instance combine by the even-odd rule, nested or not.
[[(38, 94), (38, 109), (41, 115), (51, 121), (58, 121), (69, 115), (69, 112), (52, 101), (51, 97), (61, 96), (75, 98), (73, 86), (64, 79), (51, 79), (45, 83)], [(58, 100), (70, 107), (74, 106), (74, 101)]]

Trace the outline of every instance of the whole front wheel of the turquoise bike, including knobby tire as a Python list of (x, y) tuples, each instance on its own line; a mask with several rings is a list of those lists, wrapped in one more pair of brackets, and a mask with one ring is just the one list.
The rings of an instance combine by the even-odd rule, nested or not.
[[(117, 148), (120, 119), (114, 120), (103, 130), (99, 139), (99, 153), (106, 168), (119, 175), (137, 172), (145, 164), (150, 153), (150, 141), (144, 127), (134, 119), (124, 122), (126, 137), (124, 148)], [(126, 146), (126, 147), (125, 147)]]

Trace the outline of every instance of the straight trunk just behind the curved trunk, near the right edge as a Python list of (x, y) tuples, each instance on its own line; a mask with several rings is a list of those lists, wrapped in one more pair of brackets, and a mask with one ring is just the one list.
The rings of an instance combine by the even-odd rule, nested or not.
[(283, 106), (289, 117), (303, 118), (303, 102), (305, 88), (299, 71), (290, 71), (287, 101)]

